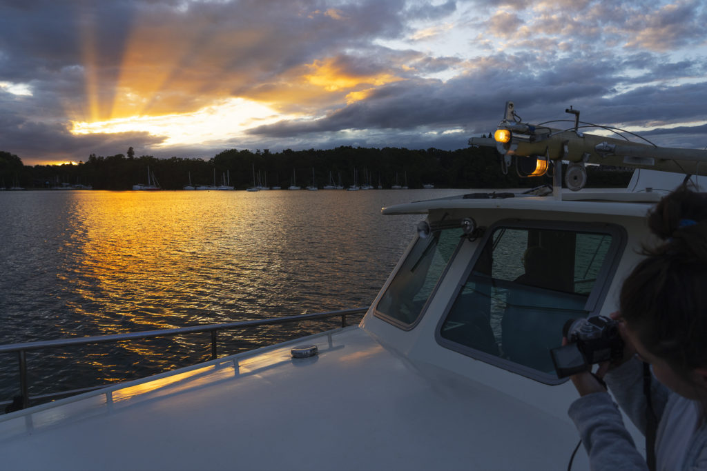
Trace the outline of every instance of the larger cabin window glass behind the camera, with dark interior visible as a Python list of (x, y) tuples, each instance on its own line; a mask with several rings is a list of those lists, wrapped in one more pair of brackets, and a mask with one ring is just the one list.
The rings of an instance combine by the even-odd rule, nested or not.
[(553, 373), (549, 350), (585, 305), (612, 242), (609, 234), (499, 227), (486, 242), (440, 335), (474, 350)]

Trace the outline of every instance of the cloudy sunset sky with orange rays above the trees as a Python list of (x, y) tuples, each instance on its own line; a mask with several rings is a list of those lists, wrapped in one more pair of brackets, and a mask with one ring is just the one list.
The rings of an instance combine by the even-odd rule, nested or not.
[(0, 150), (457, 149), (525, 120), (707, 146), (703, 0), (0, 0)]

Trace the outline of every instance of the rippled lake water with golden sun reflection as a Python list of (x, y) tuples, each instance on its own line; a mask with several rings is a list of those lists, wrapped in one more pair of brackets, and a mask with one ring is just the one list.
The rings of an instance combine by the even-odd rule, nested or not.
[[(467, 192), (0, 192), (0, 343), (368, 306), (424, 218), (380, 208)], [(322, 327), (219, 334), (219, 353)], [(210, 352), (208, 334), (82, 348), (28, 354), (30, 395), (155, 374)], [(4, 357), (0, 401), (18, 393), (16, 355)]]

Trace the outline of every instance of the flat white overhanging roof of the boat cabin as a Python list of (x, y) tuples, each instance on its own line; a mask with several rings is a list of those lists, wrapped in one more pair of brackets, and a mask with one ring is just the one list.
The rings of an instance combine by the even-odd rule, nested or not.
[(555, 213), (583, 213), (645, 217), (662, 193), (631, 193), (629, 191), (563, 192), (562, 200), (553, 196), (530, 196), (521, 193), (462, 193), (457, 196), (426, 201), (414, 201), (381, 209), (385, 215), (427, 214), (432, 210), (455, 209), (515, 209)]

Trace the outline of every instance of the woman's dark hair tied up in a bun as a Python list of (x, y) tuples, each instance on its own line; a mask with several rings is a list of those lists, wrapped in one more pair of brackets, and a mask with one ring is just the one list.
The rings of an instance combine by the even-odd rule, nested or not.
[(624, 281), (621, 316), (678, 374), (707, 366), (707, 193), (684, 186), (648, 215), (660, 243)]

